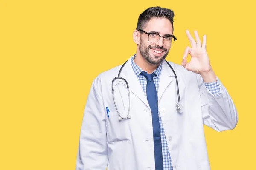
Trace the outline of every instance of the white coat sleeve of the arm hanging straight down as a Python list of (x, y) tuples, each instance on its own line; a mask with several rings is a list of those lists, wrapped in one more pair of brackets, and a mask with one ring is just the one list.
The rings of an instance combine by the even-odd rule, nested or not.
[(108, 164), (105, 109), (97, 82), (93, 81), (84, 109), (76, 170), (105, 170)]

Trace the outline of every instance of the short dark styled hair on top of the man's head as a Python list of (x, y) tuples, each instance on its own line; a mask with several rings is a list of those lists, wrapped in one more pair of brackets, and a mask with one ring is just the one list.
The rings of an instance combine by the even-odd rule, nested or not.
[(171, 9), (161, 8), (159, 6), (150, 7), (146, 9), (143, 13), (140, 14), (136, 29), (144, 29), (146, 23), (151, 20), (153, 17), (156, 18), (167, 18), (172, 23), (173, 31), (173, 17), (174, 12)]

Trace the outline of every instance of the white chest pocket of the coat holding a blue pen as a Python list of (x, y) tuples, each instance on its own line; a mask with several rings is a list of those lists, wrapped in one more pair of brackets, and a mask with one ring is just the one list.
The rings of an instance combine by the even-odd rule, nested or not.
[[(122, 117), (128, 113), (127, 110), (119, 111)], [(106, 119), (108, 143), (131, 140), (130, 119), (119, 120), (117, 111), (108, 112)], [(131, 115), (131, 112), (130, 114)]]

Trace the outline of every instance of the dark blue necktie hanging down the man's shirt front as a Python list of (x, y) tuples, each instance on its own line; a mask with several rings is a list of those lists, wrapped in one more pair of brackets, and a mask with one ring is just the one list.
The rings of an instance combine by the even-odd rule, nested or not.
[(141, 75), (147, 79), (147, 99), (152, 113), (155, 167), (156, 170), (163, 170), (162, 142), (158, 119), (157, 89), (153, 81), (153, 76), (156, 74), (154, 72), (152, 74), (147, 74), (146, 72), (142, 71)]

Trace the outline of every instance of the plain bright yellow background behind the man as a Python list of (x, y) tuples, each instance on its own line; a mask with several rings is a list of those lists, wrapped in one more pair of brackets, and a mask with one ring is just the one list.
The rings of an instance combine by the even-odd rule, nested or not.
[(255, 170), (255, 4), (243, 0), (0, 0), (0, 170), (74, 170), (93, 79), (136, 52), (132, 32), (150, 6), (175, 12), (181, 63), (185, 30), (207, 35), (212, 68), (239, 122), (205, 126), (212, 170)]

